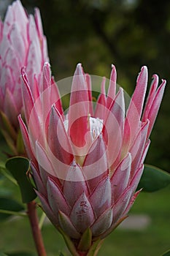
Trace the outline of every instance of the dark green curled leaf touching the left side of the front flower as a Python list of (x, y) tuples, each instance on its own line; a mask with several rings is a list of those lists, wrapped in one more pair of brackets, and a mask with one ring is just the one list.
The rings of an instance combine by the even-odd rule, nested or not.
[(18, 182), (23, 203), (29, 203), (35, 199), (34, 187), (28, 179), (29, 161), (25, 157), (12, 157), (7, 160), (6, 168)]

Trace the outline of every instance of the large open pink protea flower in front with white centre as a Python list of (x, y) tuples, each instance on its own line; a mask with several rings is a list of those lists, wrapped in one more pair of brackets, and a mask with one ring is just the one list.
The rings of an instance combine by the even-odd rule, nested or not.
[(24, 71), (22, 75), (26, 125), (20, 116), (19, 121), (36, 193), (72, 254), (93, 255), (90, 252), (97, 252), (100, 241), (125, 219), (139, 194), (136, 187), (166, 81), (158, 87), (158, 76), (153, 76), (143, 110), (147, 67), (142, 67), (125, 111), (124, 92), (120, 88), (116, 93), (112, 66), (107, 95), (104, 78), (93, 110), (90, 75), (78, 64), (64, 114), (49, 64), (43, 69), (39, 99), (31, 94)]

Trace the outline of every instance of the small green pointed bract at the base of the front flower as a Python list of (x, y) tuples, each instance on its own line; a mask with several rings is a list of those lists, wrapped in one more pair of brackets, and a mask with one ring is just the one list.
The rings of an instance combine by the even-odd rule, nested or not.
[(91, 245), (91, 239), (92, 239), (92, 233), (90, 228), (88, 227), (87, 230), (82, 234), (82, 237), (80, 239), (80, 243), (78, 245), (78, 249), (81, 252), (86, 252), (90, 248)]

